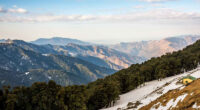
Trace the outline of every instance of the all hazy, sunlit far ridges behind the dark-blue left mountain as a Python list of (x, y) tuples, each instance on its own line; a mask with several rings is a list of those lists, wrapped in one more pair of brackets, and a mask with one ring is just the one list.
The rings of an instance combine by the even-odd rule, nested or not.
[[(151, 57), (161, 56), (167, 52), (177, 51), (194, 43), (200, 36), (168, 37), (162, 40), (120, 43), (111, 46), (53, 37), (41, 38), (31, 43), (13, 40), (16, 45), (42, 54), (57, 54), (77, 57), (95, 65), (120, 70), (131, 64), (141, 63)], [(2, 40), (6, 41), (6, 40)], [(33, 44), (32, 44), (33, 43)]]

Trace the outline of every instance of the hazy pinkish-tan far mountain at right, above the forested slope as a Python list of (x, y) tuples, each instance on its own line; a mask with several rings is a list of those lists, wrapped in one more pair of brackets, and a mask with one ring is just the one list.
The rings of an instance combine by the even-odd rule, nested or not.
[(120, 43), (110, 47), (130, 55), (151, 58), (164, 55), (167, 52), (180, 50), (198, 39), (200, 39), (200, 36), (188, 35), (169, 37), (162, 40)]

